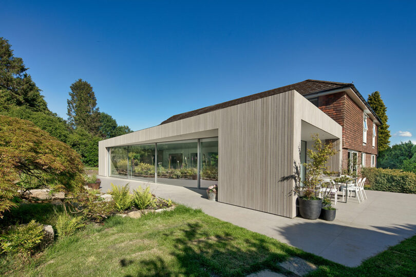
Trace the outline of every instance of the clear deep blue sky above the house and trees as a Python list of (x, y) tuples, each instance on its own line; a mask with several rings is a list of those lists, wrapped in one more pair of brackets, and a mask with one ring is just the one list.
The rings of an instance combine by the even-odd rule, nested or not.
[(308, 78), (381, 92), (391, 142), (416, 142), (416, 2), (0, 2), (0, 36), (66, 118), (69, 86), (139, 130)]

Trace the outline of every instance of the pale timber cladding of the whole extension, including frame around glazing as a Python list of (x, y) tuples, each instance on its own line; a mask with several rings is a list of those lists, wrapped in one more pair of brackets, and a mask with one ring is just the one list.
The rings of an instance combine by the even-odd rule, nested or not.
[(309, 123), (341, 137), (341, 126), (292, 90), (101, 141), (99, 174), (108, 172), (106, 147), (217, 134), (218, 201), (294, 217), (290, 176), (299, 162), (301, 121), (309, 116), (315, 117)]

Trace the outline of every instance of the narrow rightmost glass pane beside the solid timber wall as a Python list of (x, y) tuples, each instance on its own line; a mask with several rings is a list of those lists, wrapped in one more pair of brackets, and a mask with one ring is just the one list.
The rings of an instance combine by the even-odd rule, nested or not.
[(218, 184), (218, 137), (200, 140), (200, 187), (207, 188)]

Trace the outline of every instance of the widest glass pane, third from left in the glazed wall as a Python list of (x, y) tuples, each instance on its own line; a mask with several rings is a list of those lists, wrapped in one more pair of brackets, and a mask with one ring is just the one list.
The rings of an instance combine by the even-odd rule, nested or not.
[(198, 141), (158, 143), (157, 182), (198, 187)]

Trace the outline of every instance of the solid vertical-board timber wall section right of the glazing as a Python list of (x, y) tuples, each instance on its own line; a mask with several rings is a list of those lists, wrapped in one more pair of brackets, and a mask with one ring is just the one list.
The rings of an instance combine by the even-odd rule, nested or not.
[[(295, 91), (220, 110), (218, 201), (295, 216)], [(300, 138), (300, 133), (299, 133)]]

